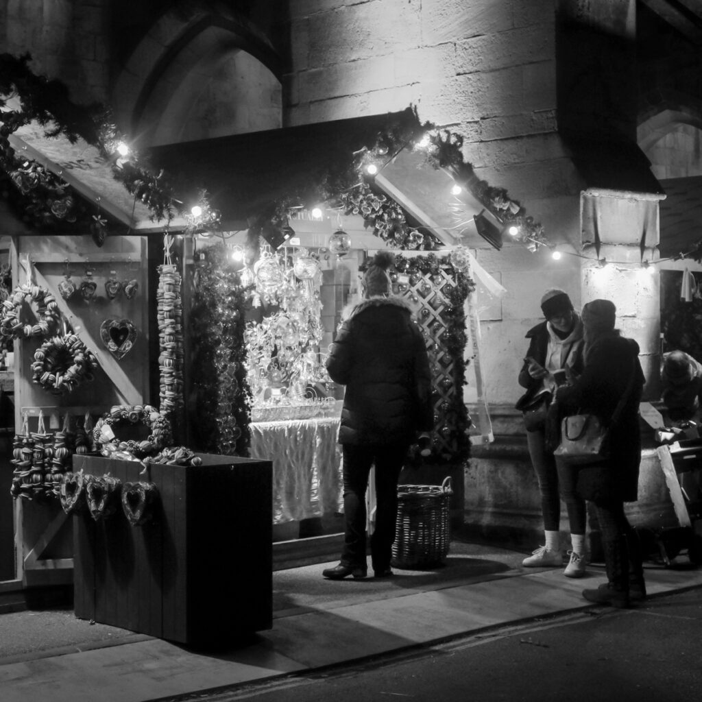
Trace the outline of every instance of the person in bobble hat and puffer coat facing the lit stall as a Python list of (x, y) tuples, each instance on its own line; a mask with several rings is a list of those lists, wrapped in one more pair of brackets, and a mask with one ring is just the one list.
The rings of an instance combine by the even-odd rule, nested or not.
[(393, 257), (376, 254), (363, 278), (364, 300), (344, 310), (326, 369), (345, 385), (338, 441), (343, 451), (345, 538), (340, 564), (322, 575), (364, 578), (366, 486), (376, 467), (376, 528), (371, 564), (392, 575), (397, 480), (409, 446), (432, 429), (431, 376), (422, 333), (402, 298), (390, 296)]

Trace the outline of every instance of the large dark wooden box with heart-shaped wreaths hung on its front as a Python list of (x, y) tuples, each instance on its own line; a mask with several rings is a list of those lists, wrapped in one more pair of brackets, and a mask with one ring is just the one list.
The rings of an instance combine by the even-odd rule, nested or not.
[(74, 456), (73, 470), (153, 482), (153, 518), (74, 515), (74, 611), (166, 640), (221, 645), (272, 627), (272, 463), (198, 454), (202, 465)]

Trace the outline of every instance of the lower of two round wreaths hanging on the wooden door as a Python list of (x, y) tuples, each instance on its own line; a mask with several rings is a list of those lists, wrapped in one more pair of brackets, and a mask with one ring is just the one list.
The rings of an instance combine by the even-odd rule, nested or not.
[(32, 380), (54, 395), (72, 392), (84, 380), (93, 380), (97, 363), (76, 334), (54, 336), (34, 352)]

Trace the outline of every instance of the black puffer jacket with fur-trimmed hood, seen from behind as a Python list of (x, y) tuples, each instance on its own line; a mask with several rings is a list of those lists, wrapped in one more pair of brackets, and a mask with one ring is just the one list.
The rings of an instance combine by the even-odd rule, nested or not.
[(346, 386), (340, 444), (411, 444), (432, 429), (424, 338), (401, 298), (373, 297), (344, 310), (326, 368)]

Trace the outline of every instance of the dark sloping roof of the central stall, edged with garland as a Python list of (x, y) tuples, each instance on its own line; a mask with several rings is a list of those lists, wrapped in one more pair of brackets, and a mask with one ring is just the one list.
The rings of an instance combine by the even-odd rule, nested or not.
[[(324, 183), (330, 194), (338, 173), (352, 163), (353, 153), (373, 147), (378, 133), (389, 126), (416, 124), (408, 108), (369, 117), (339, 119), (303, 126), (250, 132), (241, 135), (152, 147), (147, 155), (152, 166), (164, 168), (177, 181), (178, 192), (206, 190), (211, 206), (222, 214), (225, 229), (242, 229), (246, 220), (260, 216), (286, 201), (315, 204), (313, 197)], [(187, 183), (187, 185), (186, 185)]]

